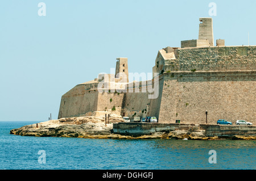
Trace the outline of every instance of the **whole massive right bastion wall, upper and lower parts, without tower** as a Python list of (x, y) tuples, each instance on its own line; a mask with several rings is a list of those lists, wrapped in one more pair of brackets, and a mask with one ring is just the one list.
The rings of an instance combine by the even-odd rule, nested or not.
[(255, 46), (159, 50), (155, 67), (161, 74), (161, 93), (151, 100), (150, 116), (160, 123), (204, 124), (205, 111), (208, 123), (218, 119), (255, 123)]

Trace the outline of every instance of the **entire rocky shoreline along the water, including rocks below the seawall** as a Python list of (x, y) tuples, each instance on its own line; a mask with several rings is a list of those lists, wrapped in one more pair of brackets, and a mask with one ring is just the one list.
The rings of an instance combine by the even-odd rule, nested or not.
[[(108, 119), (107, 119), (108, 122)], [(222, 138), (214, 136), (207, 137), (204, 131), (171, 131), (156, 132), (151, 135), (125, 136), (113, 133), (113, 123), (121, 123), (121, 116), (110, 116), (109, 124), (105, 124), (105, 117), (86, 116), (62, 118), (50, 120), (38, 124), (26, 125), (21, 128), (12, 129), (10, 134), (20, 136), (36, 137), (77, 137), (94, 139), (173, 139), (173, 140), (220, 140)], [(256, 135), (234, 135), (226, 137), (232, 140), (256, 140)]]

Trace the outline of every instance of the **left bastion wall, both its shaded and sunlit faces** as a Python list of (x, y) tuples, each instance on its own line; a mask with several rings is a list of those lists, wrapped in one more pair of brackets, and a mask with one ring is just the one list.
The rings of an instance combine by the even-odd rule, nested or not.
[[(123, 93), (99, 92), (98, 83), (73, 87), (61, 97), (58, 119), (61, 117), (91, 116), (94, 111), (121, 110)], [(121, 113), (121, 111), (119, 111)]]

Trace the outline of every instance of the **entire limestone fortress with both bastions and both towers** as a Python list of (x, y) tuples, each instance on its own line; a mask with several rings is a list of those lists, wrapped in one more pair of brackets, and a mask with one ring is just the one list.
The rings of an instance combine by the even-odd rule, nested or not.
[[(117, 58), (115, 74), (100, 74), (61, 97), (58, 119), (112, 110), (131, 120), (155, 116), (159, 123), (256, 124), (256, 46), (225, 46), (223, 39), (214, 46), (212, 18), (200, 22), (199, 39), (158, 51), (152, 79), (129, 82), (128, 59)], [(150, 97), (150, 87), (158, 96)]]

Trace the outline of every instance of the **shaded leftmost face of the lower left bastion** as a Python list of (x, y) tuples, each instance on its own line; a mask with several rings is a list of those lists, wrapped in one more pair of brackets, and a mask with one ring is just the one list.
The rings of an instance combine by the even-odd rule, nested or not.
[(61, 97), (58, 119), (85, 116), (85, 113), (97, 111), (98, 92), (85, 88), (85, 85), (77, 85)]

